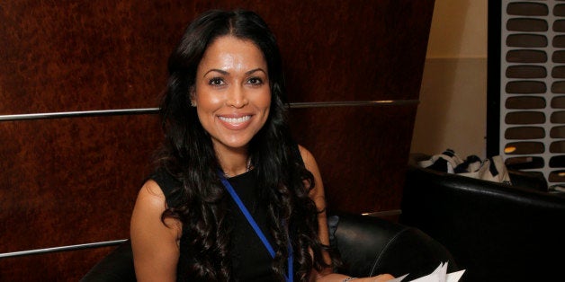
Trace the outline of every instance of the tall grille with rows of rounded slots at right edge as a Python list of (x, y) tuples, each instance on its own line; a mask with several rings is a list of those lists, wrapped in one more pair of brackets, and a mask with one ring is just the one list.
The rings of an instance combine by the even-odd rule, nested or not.
[(489, 1), (488, 120), (489, 155), (565, 184), (565, 1)]

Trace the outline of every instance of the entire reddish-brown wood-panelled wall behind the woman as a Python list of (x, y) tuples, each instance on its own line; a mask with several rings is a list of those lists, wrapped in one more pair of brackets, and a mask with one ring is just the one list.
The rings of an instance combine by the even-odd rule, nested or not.
[[(260, 13), (291, 102), (417, 100), (434, 0), (8, 1), (0, 4), (0, 117), (155, 108), (194, 15)], [(294, 109), (330, 208), (399, 208), (417, 106)], [(124, 239), (155, 115), (0, 121), (0, 253)], [(78, 280), (112, 248), (0, 259), (0, 280)]]

